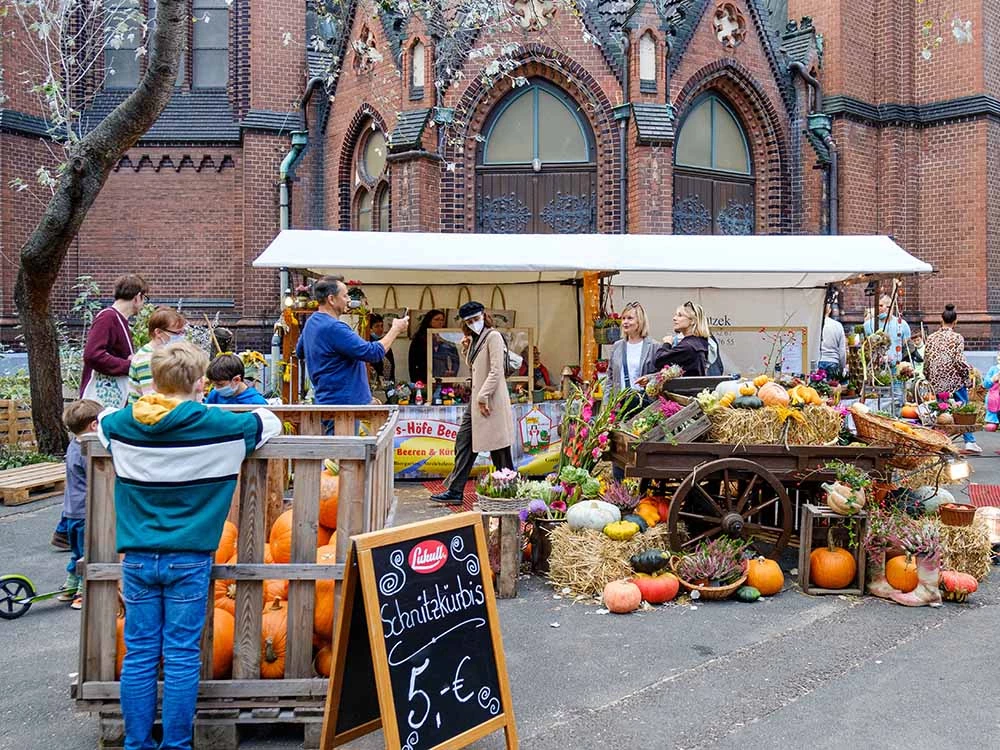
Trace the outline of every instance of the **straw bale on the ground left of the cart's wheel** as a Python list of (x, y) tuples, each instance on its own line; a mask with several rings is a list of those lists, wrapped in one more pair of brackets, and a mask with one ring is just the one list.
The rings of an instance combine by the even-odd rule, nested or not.
[(600, 596), (605, 585), (633, 575), (629, 558), (647, 549), (669, 549), (667, 524), (660, 523), (645, 534), (617, 542), (600, 531), (574, 531), (560, 524), (550, 535), (549, 582), (568, 588), (577, 596)]

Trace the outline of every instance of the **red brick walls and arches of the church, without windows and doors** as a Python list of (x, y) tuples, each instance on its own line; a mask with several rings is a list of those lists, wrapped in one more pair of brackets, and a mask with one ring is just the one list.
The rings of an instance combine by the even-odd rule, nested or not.
[[(731, 1), (751, 26), (746, 40), (735, 49), (723, 47), (712, 27), (716, 4), (692, 3), (700, 15), (669, 65), (662, 19), (652, 4), (643, 5), (630, 19), (629, 98), (670, 103), (680, 121), (698, 96), (711, 91), (723, 97), (750, 143), (756, 231), (822, 231), (826, 172), (803, 136), (807, 89), (777, 70), (776, 37), (756, 25), (763, 3)], [(1000, 38), (1000, 0), (789, 0), (788, 5), (791, 18), (812, 17), (823, 35), (818, 72), (827, 97), (904, 106), (977, 95), (1000, 98), (1000, 56), (992, 53)], [(970, 42), (953, 33), (953, 17), (971, 22)], [(234, 0), (229, 97), (237, 120), (250, 109), (297, 108), (307, 78), (305, 18), (303, 0)], [(9, 30), (12, 23), (0, 19), (0, 28)], [(292, 225), (349, 228), (353, 157), (364, 129), (374, 123), (388, 134), (397, 113), (443, 106), (454, 110), (455, 124), (439, 132), (430, 122), (422, 153), (390, 159), (391, 227), (472, 231), (477, 136), (511, 90), (510, 80), (488, 85), (483, 76), (488, 60), (468, 61), (438, 100), (435, 37), (422, 18), (405, 27), (399, 66), (385, 28), (367, 5), (352, 9), (349, 24), (350, 39), (366, 29), (383, 59), (362, 65), (346, 45), (335, 98), (320, 101), (321, 92), (314, 97), (310, 143), (292, 182)], [(649, 92), (640, 91), (638, 81), (638, 39), (646, 32), (657, 49), (656, 88)], [(426, 75), (421, 98), (411, 98), (410, 54), (418, 39), (426, 50)], [(579, 105), (596, 140), (598, 231), (619, 231), (626, 206), (629, 231), (672, 231), (673, 146), (639, 143), (634, 122), (627, 129), (626, 206), (621, 205), (613, 118), (614, 107), (625, 101), (621, 71), (584, 39), (579, 22), (560, 8), (544, 32), (517, 29), (489, 41), (494, 47), (518, 42), (515, 74), (545, 79)], [(10, 100), (2, 106), (39, 114), (37, 100), (15, 85), (9, 72), (27, 64), (19, 44), (16, 36), (3, 35), (0, 64), (8, 71)], [(1000, 342), (1000, 119), (954, 117), (926, 125), (838, 114), (833, 136), (840, 154), (841, 232), (891, 234), (937, 270), (907, 281), (911, 319), (933, 324), (943, 304), (954, 302), (970, 345)], [(161, 298), (231, 299), (228, 322), (245, 327), (252, 338), (241, 336), (241, 343), (266, 346), (281, 290), (274, 270), (250, 264), (278, 232), (278, 167), (289, 147), (287, 134), (244, 130), (239, 143), (145, 144), (131, 150), (71, 248), (55, 308), (65, 314), (80, 274), (93, 275), (107, 290), (116, 275), (136, 270)], [(17, 253), (42, 208), (29, 192), (12, 192), (6, 185), (13, 177), (29, 178), (46, 158), (37, 138), (0, 132), (0, 318), (5, 322), (0, 337), (5, 339), (13, 324)], [(847, 300), (857, 315), (858, 292), (851, 290)]]

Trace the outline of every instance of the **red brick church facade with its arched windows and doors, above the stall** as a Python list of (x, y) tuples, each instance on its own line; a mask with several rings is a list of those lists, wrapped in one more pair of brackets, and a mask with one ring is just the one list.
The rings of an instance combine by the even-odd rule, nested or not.
[[(890, 234), (936, 269), (909, 287), (908, 317), (954, 302), (973, 344), (1000, 341), (1000, 0), (590, 0), (578, 17), (517, 0), (528, 28), (471, 43), (367, 0), (339, 24), (307, 5), (192, 0), (216, 26), (195, 24), (170, 106), (94, 206), (60, 310), (77, 276), (109, 289), (139, 271), (155, 299), (218, 312), (263, 345), (281, 290), (250, 263), (279, 228), (291, 133), (308, 128), (293, 227)], [(313, 36), (326, 51), (309, 51)], [(466, 59), (487, 42), (516, 44), (509, 71)], [(6, 186), (46, 153), (12, 72), (21, 52), (5, 33), (4, 338), (41, 211)], [(303, 118), (306, 82), (331, 56), (334, 96), (320, 91)], [(83, 126), (139, 72), (106, 83)]]

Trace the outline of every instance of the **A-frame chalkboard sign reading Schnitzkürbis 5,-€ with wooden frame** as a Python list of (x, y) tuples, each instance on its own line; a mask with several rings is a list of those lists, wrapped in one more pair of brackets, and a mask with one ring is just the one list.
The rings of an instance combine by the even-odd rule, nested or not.
[(333, 748), (380, 725), (386, 747), (517, 733), (481, 516), (352, 537), (323, 726)]

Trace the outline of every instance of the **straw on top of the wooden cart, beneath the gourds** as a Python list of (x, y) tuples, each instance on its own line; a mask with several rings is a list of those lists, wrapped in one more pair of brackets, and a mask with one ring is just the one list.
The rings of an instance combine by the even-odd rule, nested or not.
[(713, 409), (709, 439), (734, 445), (825, 445), (837, 439), (843, 417), (829, 406), (806, 406), (802, 419), (787, 424), (773, 406), (763, 409)]

